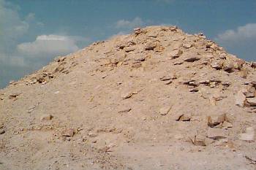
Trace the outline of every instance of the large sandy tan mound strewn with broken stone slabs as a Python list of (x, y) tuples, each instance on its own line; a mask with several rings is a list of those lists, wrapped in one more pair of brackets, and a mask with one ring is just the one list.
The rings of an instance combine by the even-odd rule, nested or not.
[(256, 63), (135, 28), (0, 90), (0, 169), (255, 169)]

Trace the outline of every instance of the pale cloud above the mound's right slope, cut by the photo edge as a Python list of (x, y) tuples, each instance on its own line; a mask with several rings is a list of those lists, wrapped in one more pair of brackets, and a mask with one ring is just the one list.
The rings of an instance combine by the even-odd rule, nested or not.
[(256, 39), (256, 23), (247, 23), (245, 26), (239, 26), (236, 30), (230, 29), (216, 38), (217, 42), (225, 44)]

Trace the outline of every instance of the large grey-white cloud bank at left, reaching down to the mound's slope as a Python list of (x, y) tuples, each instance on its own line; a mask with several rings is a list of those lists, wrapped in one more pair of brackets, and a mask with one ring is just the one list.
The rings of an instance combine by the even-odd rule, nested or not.
[(10, 1), (0, 0), (0, 88), (10, 80), (39, 69), (56, 55), (78, 50), (79, 43), (82, 45), (89, 40), (80, 36), (42, 35), (34, 42), (18, 45), (25, 36), (31, 36), (34, 28), (44, 26), (34, 13), (21, 18), (19, 9)]

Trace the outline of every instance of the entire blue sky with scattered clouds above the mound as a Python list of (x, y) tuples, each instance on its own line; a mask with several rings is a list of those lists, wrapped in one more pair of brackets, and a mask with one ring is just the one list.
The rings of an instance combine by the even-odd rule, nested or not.
[(203, 32), (256, 61), (255, 0), (0, 0), (0, 88), (55, 56), (149, 25)]

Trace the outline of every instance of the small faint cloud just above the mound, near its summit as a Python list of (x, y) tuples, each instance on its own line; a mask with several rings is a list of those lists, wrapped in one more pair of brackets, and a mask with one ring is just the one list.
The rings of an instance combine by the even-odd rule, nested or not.
[(136, 28), (138, 26), (143, 26), (145, 24), (145, 22), (139, 18), (136, 17), (133, 20), (118, 20), (116, 22), (116, 28)]

